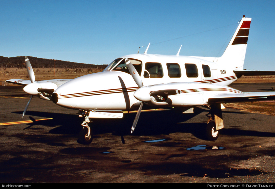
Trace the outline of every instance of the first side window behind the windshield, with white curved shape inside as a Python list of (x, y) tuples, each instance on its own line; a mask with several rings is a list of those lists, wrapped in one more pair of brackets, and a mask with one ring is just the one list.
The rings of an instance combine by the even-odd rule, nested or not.
[(144, 75), (145, 78), (162, 78), (163, 69), (160, 63), (146, 62)]

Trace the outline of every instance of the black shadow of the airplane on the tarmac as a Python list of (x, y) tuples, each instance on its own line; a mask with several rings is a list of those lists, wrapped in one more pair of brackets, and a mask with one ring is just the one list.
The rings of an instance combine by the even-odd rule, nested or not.
[[(22, 114), (21, 111), (12, 113)], [(201, 122), (185, 122), (199, 114), (206, 115), (207, 113), (209, 113), (209, 110), (199, 107), (195, 107), (194, 113), (190, 114), (182, 114), (176, 110), (142, 112), (133, 134), (131, 134), (130, 131), (136, 113), (125, 114), (122, 119), (92, 119), (92, 122), (89, 125), (92, 126), (94, 136), (104, 133), (112, 133), (112, 135), (115, 136), (149, 136), (169, 135), (170, 133), (191, 133), (199, 139), (205, 139), (204, 130), (207, 124), (206, 116)], [(249, 114), (237, 111), (223, 111), (223, 113)], [(82, 129), (81, 123), (84, 120), (84, 118), (79, 117), (78, 114), (49, 113), (40, 111), (28, 111), (25, 116), (29, 116), (29, 119), (34, 122), (27, 124), (28, 126), (24, 129), (31, 129), (35, 125), (42, 125), (54, 127), (49, 131), (52, 134), (69, 134), (76, 136), (78, 136), (78, 133)], [(35, 121), (32, 116), (53, 119)], [(241, 130), (241, 128), (240, 130), (236, 128), (224, 128), (221, 130), (220, 134), (232, 136), (275, 136), (275, 133), (271, 132)]]

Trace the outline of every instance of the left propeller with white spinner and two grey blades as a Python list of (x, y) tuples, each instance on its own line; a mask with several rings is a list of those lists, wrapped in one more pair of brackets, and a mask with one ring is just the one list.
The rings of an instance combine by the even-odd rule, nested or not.
[(28, 84), (26, 85), (23, 90), (28, 93), (28, 94), (31, 94), (31, 98), (29, 100), (29, 102), (27, 103), (27, 106), (26, 108), (24, 109), (23, 111), (23, 114), (22, 114), (22, 117), (25, 115), (29, 105), (30, 105), (30, 102), (32, 100), (32, 97), (33, 95), (37, 95), (39, 94), (40, 92), (37, 91), (38, 88), (41, 88), (41, 85), (37, 82), (35, 82), (35, 76), (34, 76), (34, 71), (32, 69), (32, 65), (29, 61), (29, 58), (27, 56), (25, 56), (25, 62), (26, 62), (26, 67), (27, 67), (27, 71), (28, 71), (28, 74), (29, 74), (29, 78), (31, 80), (31, 84)]

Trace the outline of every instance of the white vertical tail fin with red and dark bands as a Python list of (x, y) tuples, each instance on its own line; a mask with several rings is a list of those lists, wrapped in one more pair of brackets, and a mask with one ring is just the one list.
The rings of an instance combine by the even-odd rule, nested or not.
[(236, 70), (243, 70), (250, 23), (251, 18), (243, 17), (241, 19), (224, 54), (218, 58), (219, 62), (222, 64), (232, 64), (236, 67)]

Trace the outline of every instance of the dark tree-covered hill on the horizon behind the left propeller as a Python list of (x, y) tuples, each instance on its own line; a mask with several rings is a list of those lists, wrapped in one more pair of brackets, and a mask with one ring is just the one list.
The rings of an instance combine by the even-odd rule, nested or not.
[[(45, 58), (37, 58), (28, 56), (29, 61), (33, 68), (54, 68), (54, 60), (45, 59)], [(0, 67), (2, 68), (24, 68), (26, 67), (25, 64), (25, 57), (24, 56), (17, 56), (17, 57), (4, 57), (0, 56)], [(65, 69), (105, 69), (107, 65), (95, 65), (95, 64), (83, 64), (83, 63), (76, 63), (76, 62), (67, 62), (56, 60), (55, 61), (56, 68), (65, 68)]]

